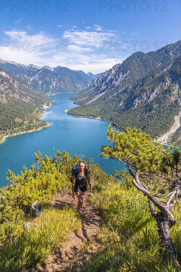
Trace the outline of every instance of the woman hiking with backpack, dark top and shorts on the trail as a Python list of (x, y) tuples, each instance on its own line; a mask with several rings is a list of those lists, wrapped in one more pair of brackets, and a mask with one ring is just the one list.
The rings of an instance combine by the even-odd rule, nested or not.
[(72, 176), (72, 197), (75, 199), (75, 194), (78, 198), (77, 210), (80, 214), (83, 213), (82, 206), (84, 202), (85, 193), (87, 191), (87, 182), (90, 185), (90, 192), (92, 193), (92, 186), (90, 182), (89, 171), (86, 169), (84, 161), (79, 161), (78, 170)]

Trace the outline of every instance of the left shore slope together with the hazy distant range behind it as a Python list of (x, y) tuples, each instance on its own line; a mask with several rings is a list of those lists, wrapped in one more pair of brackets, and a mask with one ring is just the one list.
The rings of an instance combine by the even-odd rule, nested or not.
[(0, 59), (0, 141), (47, 126), (39, 120), (43, 108), (50, 105), (45, 94), (80, 91), (95, 76), (67, 67), (26, 66)]

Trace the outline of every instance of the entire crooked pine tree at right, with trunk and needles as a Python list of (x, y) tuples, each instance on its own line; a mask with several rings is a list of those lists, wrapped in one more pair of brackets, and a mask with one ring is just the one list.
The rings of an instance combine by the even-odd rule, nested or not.
[(101, 156), (127, 166), (133, 184), (148, 199), (166, 257), (179, 266), (170, 228), (176, 224), (172, 211), (181, 198), (181, 151), (164, 149), (136, 128), (120, 134), (110, 126), (107, 135), (112, 146), (103, 146)]

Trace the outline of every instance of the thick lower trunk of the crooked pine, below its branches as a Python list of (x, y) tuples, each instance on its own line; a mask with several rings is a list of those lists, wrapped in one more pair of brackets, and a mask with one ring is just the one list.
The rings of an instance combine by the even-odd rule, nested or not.
[(167, 220), (162, 212), (158, 212), (155, 217), (158, 229), (158, 235), (161, 242), (162, 250), (165, 252), (165, 257), (174, 265), (177, 263), (176, 252), (170, 236), (170, 228), (175, 225), (175, 222)]

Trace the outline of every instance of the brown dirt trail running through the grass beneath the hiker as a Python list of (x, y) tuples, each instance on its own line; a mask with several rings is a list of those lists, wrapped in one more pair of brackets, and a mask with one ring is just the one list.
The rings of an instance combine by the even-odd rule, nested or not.
[[(71, 205), (73, 208), (77, 207), (77, 199), (73, 199), (67, 193), (61, 193), (52, 200), (52, 205), (57, 207), (59, 205)], [(80, 215), (82, 226), (77, 232), (71, 232), (66, 243), (57, 254), (48, 257), (47, 261), (39, 267), (36, 272), (75, 272), (81, 268), (89, 259), (90, 255), (97, 251), (98, 245), (94, 238), (101, 225), (101, 219), (95, 214), (88, 202), (88, 195), (85, 196), (83, 214)], [(89, 245), (88, 251), (81, 251), (83, 246)]]

